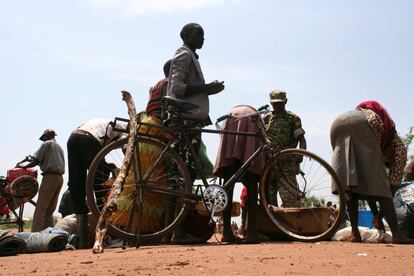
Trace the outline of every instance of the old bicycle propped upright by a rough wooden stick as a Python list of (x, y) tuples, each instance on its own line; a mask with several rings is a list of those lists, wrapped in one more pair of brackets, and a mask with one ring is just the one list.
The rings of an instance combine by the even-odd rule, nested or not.
[[(252, 115), (238, 117), (254, 120), (257, 133), (203, 129), (185, 119), (185, 114), (194, 112), (197, 106), (166, 97), (163, 106), (167, 107), (171, 116), (166, 126), (145, 120), (137, 121), (133, 100), (129, 93), (123, 93), (130, 116), (128, 137), (105, 146), (92, 162), (87, 177), (88, 206), (95, 216), (100, 216), (94, 253), (103, 252), (102, 242), (106, 230), (137, 246), (141, 242), (157, 241), (171, 233), (182, 221), (190, 205), (199, 201), (203, 202), (213, 217), (216, 212), (226, 208), (226, 189), (232, 187), (262, 153), (266, 156), (267, 165), (260, 177), (260, 203), (274, 225), (299, 241), (324, 240), (338, 228), (345, 212), (345, 194), (338, 176), (326, 161), (309, 151), (287, 149), (273, 152), (261, 117), (268, 112), (268, 108), (262, 107)], [(231, 118), (231, 114), (220, 117), (218, 121), (228, 118)], [(140, 132), (140, 129), (147, 131)], [(223, 185), (209, 185), (201, 177), (203, 184), (193, 187), (182, 155), (177, 153), (178, 147), (184, 148), (200, 172), (192, 141), (188, 139), (190, 132), (255, 136), (262, 141), (262, 145)], [(294, 166), (291, 166), (292, 162)], [(296, 169), (292, 180), (289, 175), (292, 175), (293, 167)], [(284, 208), (279, 195), (270, 198), (269, 186), (274, 185), (275, 173), (286, 180), (279, 185), (284, 185), (297, 197), (301, 206)], [(336, 194), (332, 194), (331, 189)], [(333, 218), (328, 208), (323, 206), (325, 200), (338, 206)], [(306, 216), (310, 227), (292, 225), (287, 216), (295, 212), (299, 212), (296, 215)]]

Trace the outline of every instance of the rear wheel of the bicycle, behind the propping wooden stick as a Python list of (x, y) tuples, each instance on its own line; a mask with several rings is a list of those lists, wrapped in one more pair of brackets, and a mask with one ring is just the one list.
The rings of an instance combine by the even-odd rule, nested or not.
[[(100, 216), (121, 168), (126, 143), (127, 139), (120, 139), (108, 144), (91, 164), (86, 193), (88, 206), (95, 217)], [(186, 214), (189, 200), (182, 194), (191, 192), (190, 176), (180, 157), (165, 144), (139, 137), (135, 148), (136, 158), (131, 161), (108, 231), (124, 240), (135, 241), (136, 233), (140, 232), (140, 241), (157, 241), (170, 233)], [(141, 204), (138, 201), (140, 194)], [(140, 229), (137, 229), (138, 214), (142, 217)]]

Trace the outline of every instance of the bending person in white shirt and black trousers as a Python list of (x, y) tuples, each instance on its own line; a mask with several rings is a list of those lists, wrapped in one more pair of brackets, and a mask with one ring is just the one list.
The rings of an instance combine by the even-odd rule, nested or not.
[[(77, 129), (69, 137), (68, 167), (69, 192), (72, 197), (78, 223), (79, 248), (88, 248), (89, 212), (85, 201), (86, 176), (93, 159), (98, 152), (118, 135), (109, 119), (92, 119)], [(109, 172), (108, 172), (109, 174)]]

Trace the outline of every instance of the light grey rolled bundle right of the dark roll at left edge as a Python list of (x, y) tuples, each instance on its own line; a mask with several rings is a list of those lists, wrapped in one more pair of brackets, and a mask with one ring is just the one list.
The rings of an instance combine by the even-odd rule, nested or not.
[(65, 234), (20, 232), (16, 235), (26, 241), (26, 253), (58, 252), (64, 250), (68, 243), (68, 237)]

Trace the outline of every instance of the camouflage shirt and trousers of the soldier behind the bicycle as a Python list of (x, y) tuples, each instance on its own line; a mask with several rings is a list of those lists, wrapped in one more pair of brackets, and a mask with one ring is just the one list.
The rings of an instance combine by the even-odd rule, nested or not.
[[(289, 111), (278, 116), (271, 114), (265, 121), (267, 122), (266, 132), (272, 140), (271, 145), (275, 152), (287, 148), (296, 148), (299, 142), (298, 137), (305, 133), (300, 118)], [(283, 176), (280, 174), (281, 170), (283, 170)], [(298, 171), (299, 164), (296, 160), (285, 160), (285, 162), (279, 164), (278, 168), (273, 170), (270, 179), (274, 185), (270, 185), (268, 190), (270, 204), (277, 205), (277, 192), (279, 191), (283, 207), (299, 207), (299, 201), (292, 194), (293, 191), (289, 192), (283, 187), (286, 187), (286, 185), (283, 185), (286, 182), (294, 183), (297, 186), (296, 175)]]

